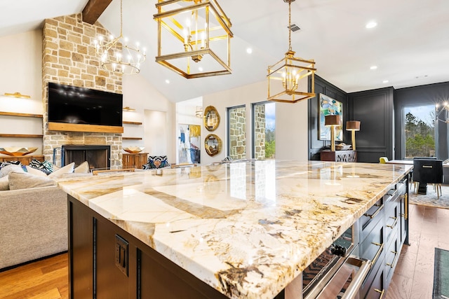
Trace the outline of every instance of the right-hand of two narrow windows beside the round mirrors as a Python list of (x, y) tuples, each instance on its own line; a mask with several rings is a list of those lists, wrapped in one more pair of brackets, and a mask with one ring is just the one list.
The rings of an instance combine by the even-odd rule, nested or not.
[(253, 158), (274, 159), (276, 154), (276, 104), (253, 104)]

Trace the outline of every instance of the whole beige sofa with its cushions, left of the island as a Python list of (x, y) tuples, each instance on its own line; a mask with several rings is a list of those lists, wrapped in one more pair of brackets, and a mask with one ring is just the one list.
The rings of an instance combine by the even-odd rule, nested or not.
[(48, 176), (14, 167), (0, 169), (0, 271), (67, 251), (67, 193), (55, 180), (92, 175), (88, 165), (73, 173), (74, 163)]

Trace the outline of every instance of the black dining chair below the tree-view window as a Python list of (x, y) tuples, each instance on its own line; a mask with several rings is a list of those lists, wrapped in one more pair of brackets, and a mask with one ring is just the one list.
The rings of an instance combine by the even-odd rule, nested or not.
[(443, 160), (413, 159), (413, 183), (416, 192), (420, 183), (434, 184), (436, 196), (439, 198), (443, 183)]

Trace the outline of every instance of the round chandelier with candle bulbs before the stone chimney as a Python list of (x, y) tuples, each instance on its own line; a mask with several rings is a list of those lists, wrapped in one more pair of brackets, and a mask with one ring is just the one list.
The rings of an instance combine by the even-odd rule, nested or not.
[(114, 38), (111, 34), (109, 40), (99, 36), (94, 41), (95, 50), (101, 57), (100, 63), (103, 69), (119, 74), (138, 74), (140, 64), (147, 57), (145, 48), (141, 52), (139, 43), (135, 46), (128, 43), (128, 39), (123, 38), (122, 25), (122, 0), (120, 0), (120, 35)]

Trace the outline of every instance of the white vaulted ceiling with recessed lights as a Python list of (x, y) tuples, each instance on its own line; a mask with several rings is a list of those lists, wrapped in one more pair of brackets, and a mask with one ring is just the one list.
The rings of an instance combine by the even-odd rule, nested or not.
[[(172, 102), (264, 81), (267, 66), (288, 50), (288, 4), (283, 0), (218, 1), (232, 21), (232, 74), (185, 79), (154, 62), (156, 0), (123, 0), (123, 34), (148, 49), (141, 74)], [(45, 18), (85, 8), (96, 18), (102, 6), (107, 7), (99, 22), (119, 34), (119, 0), (86, 4), (88, 0), (1, 1), (0, 36), (36, 29)], [(300, 30), (292, 34), (292, 48), (297, 56), (314, 59), (316, 74), (346, 92), (449, 81), (448, 15), (447, 0), (296, 0), (292, 22)], [(372, 20), (377, 27), (366, 29)]]

